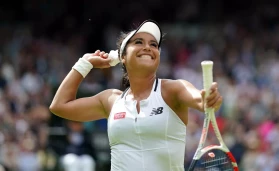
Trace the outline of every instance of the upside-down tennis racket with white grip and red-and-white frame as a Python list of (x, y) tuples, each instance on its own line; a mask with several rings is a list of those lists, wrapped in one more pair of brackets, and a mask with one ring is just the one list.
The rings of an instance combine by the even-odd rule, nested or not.
[[(207, 97), (213, 82), (213, 62), (203, 61), (201, 66), (205, 97)], [(204, 147), (210, 123), (220, 145)], [(201, 138), (188, 171), (238, 171), (235, 158), (222, 139), (213, 108), (205, 108)]]

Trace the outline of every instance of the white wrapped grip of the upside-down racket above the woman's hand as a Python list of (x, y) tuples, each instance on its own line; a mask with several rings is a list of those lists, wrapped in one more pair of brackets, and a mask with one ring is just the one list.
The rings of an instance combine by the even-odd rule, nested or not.
[(213, 62), (212, 61), (202, 61), (202, 76), (203, 76), (203, 88), (205, 89), (205, 97), (209, 95), (209, 89), (213, 82)]

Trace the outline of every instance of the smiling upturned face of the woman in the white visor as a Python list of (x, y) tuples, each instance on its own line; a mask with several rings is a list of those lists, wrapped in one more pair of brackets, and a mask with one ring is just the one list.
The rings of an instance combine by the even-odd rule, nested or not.
[(122, 63), (127, 71), (155, 73), (160, 63), (159, 46), (149, 33), (137, 33), (128, 42)]

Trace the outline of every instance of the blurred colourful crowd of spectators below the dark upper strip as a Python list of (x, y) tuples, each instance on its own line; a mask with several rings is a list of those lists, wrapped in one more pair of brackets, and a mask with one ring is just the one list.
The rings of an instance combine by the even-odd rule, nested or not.
[[(267, 16), (185, 22), (197, 14), (195, 3), (189, 2), (191, 10), (181, 7), (188, 9), (187, 14), (177, 13), (174, 21), (158, 21), (165, 32), (158, 77), (185, 79), (202, 89), (200, 62), (213, 60), (214, 81), (223, 96), (216, 117), (225, 143), (241, 170), (278, 171), (279, 24), (274, 20), (278, 14), (267, 8)], [(145, 16), (130, 23), (139, 23)], [(69, 34), (73, 23), (77, 23), (74, 18), (67, 18), (66, 31), (52, 36), (39, 36), (30, 22), (0, 24), (0, 170), (66, 170), (63, 157), (67, 154), (87, 156), (84, 165), (96, 170), (109, 168), (104, 166), (109, 165), (106, 121), (67, 121), (52, 115), (48, 106), (78, 58), (96, 49), (115, 49), (123, 27), (108, 22), (102, 33), (95, 33), (98, 39), (88, 40), (88, 30)], [(91, 46), (93, 41), (97, 43)], [(78, 96), (120, 88), (121, 78), (120, 66), (93, 69)], [(197, 148), (202, 122), (202, 113), (189, 111), (185, 168)], [(217, 142), (211, 134), (212, 130), (209, 141)]]

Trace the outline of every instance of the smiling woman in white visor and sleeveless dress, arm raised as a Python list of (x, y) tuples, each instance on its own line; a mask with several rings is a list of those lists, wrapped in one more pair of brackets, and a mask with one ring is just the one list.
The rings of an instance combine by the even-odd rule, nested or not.
[[(105, 52), (85, 54), (63, 80), (50, 110), (76, 121), (108, 119), (111, 171), (184, 171), (188, 108), (218, 110), (222, 97), (217, 83), (203, 100), (204, 90), (185, 80), (159, 79), (161, 29), (152, 20), (120, 39), (118, 56), (124, 68), (122, 92), (108, 89), (76, 99), (82, 79), (91, 68), (117, 63)], [(111, 65), (110, 65), (111, 64)]]

